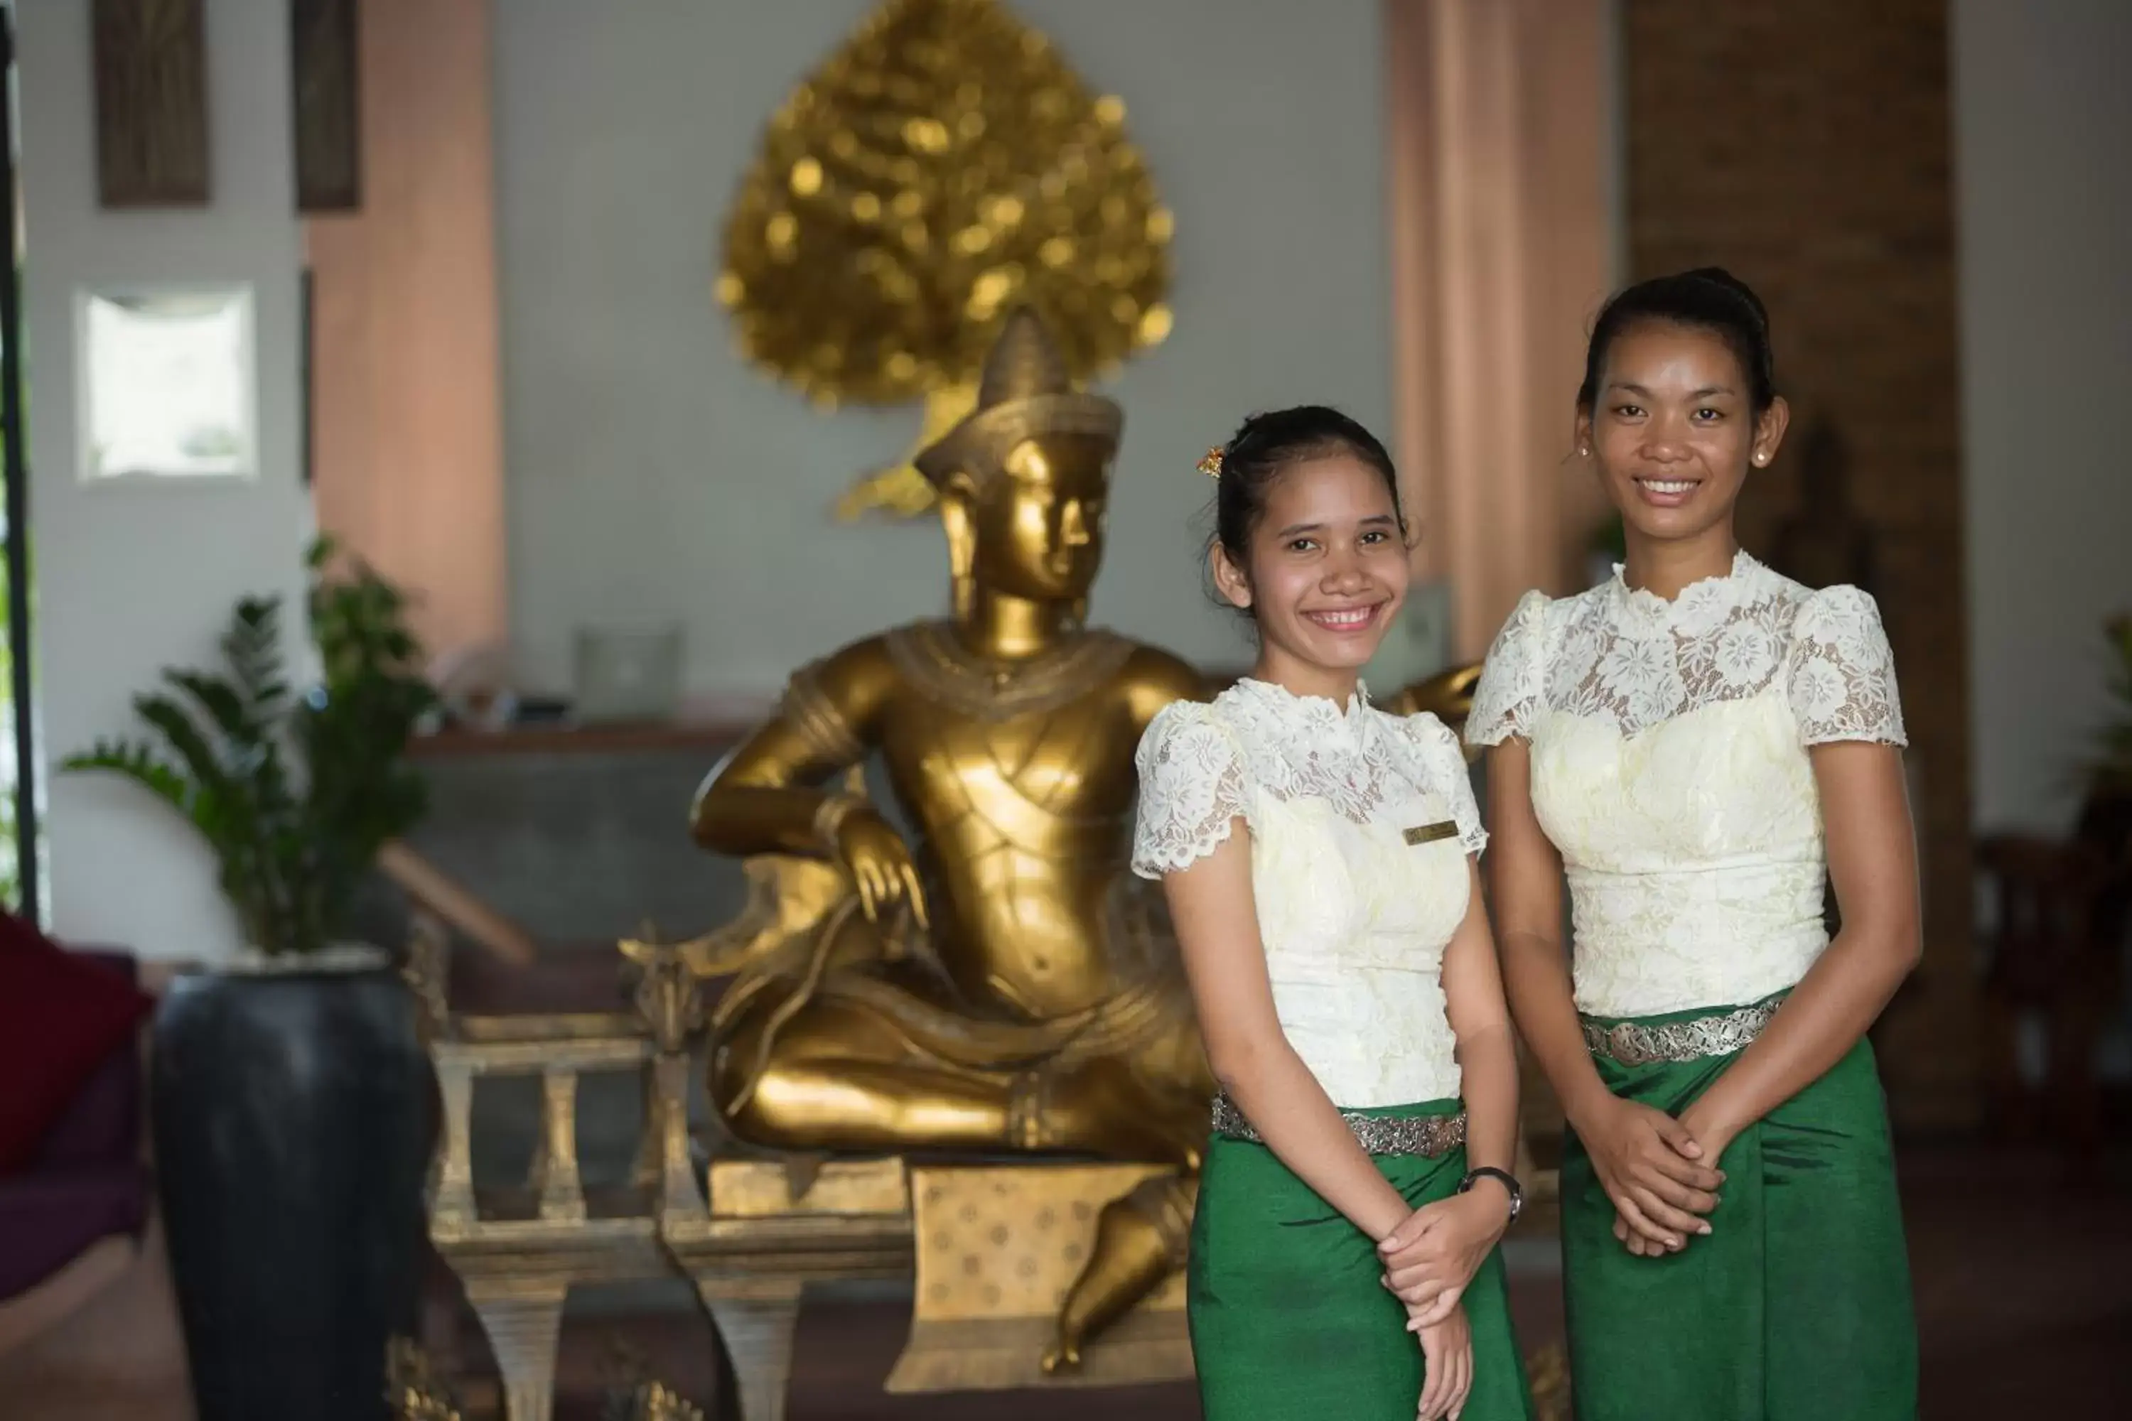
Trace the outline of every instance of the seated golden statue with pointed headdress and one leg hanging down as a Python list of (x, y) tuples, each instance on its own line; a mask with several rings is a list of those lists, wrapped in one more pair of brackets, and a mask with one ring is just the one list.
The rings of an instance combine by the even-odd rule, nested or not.
[[(795, 673), (691, 818), (774, 888), (697, 963), (736, 971), (710, 1095), (738, 1138), (1173, 1165), (1102, 1210), (1047, 1370), (1183, 1259), (1213, 1095), (1160, 891), (1128, 871), (1141, 731), (1207, 686), (1083, 626), (1119, 428), (1013, 313), (976, 409), (915, 460), (953, 616)], [(876, 754), (908, 839), (859, 790)]]

